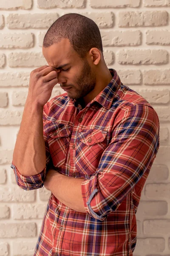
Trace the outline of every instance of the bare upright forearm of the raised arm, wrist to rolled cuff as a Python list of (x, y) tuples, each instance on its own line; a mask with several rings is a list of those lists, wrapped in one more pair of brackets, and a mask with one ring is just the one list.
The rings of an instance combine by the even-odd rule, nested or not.
[(37, 175), (45, 168), (42, 114), (43, 107), (27, 98), (13, 153), (14, 165), (24, 176)]

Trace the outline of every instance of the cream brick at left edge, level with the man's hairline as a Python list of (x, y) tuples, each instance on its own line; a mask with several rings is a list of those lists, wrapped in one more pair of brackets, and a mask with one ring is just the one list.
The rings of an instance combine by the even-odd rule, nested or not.
[(31, 48), (34, 46), (32, 33), (4, 33), (0, 34), (0, 49)]

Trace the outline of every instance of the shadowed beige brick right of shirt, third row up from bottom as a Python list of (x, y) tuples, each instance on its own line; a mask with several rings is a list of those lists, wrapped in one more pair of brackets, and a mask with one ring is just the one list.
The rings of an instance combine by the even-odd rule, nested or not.
[(137, 211), (143, 217), (162, 216), (167, 214), (168, 204), (166, 201), (140, 201)]

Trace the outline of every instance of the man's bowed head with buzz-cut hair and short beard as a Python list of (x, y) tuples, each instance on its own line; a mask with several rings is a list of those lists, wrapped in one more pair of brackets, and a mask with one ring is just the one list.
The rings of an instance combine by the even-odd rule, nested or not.
[(105, 61), (102, 38), (93, 20), (77, 13), (59, 17), (45, 34), (42, 52), (48, 64), (59, 70), (61, 87), (72, 87), (70, 98), (83, 98), (95, 89)]

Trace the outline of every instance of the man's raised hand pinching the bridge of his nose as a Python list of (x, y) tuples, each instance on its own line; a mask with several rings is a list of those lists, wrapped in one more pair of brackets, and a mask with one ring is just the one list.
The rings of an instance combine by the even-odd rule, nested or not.
[(42, 66), (31, 71), (27, 100), (44, 106), (51, 97), (54, 85), (58, 83), (56, 70), (51, 66)]

